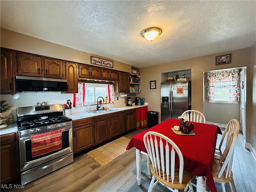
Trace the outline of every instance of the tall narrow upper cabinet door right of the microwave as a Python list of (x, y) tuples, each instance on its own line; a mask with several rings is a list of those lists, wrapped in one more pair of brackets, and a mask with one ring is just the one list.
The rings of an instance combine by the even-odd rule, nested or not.
[(66, 62), (66, 80), (68, 84), (68, 93), (78, 92), (78, 73), (77, 64)]

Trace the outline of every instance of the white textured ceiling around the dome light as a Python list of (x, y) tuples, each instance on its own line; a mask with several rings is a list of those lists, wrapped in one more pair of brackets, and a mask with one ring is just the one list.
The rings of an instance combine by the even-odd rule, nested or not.
[[(1, 27), (137, 68), (252, 46), (256, 1), (0, 1)], [(153, 42), (141, 36), (157, 26)]]

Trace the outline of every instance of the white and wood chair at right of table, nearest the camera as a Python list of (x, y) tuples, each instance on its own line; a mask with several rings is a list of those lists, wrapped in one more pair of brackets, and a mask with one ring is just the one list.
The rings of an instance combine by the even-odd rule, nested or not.
[(231, 191), (236, 192), (231, 168), (237, 136), (238, 134), (236, 134), (236, 132), (230, 133), (226, 148), (224, 149), (220, 160), (214, 159), (212, 165), (212, 176), (215, 181), (221, 182), (222, 192), (226, 192), (225, 183), (229, 183)]

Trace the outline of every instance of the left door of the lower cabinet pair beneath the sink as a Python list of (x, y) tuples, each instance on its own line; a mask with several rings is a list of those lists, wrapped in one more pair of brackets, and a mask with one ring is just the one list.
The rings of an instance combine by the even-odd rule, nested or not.
[(108, 120), (95, 122), (95, 144), (108, 140)]

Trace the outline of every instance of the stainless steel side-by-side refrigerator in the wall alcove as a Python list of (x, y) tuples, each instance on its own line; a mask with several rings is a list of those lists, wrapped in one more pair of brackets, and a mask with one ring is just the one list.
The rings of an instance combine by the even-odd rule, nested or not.
[(174, 81), (161, 83), (161, 122), (178, 119), (191, 109), (191, 82)]

